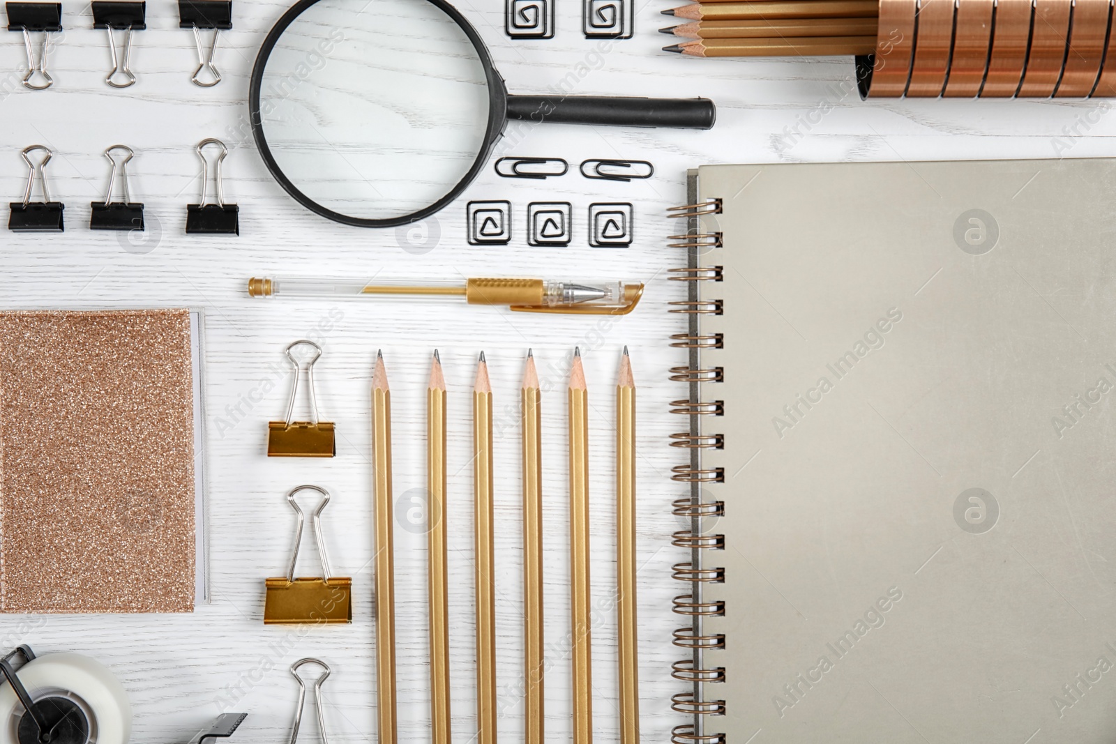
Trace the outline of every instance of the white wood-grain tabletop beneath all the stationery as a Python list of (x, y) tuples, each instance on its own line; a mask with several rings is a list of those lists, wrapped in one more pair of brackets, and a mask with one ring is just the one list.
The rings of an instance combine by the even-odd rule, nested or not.
[[(639, 4), (639, 3), (637, 3)], [(450, 522), (453, 612), (454, 735), (475, 733), (473, 711), (472, 491), (470, 390), (474, 360), (488, 355), (496, 390), (497, 539), (500, 574), (500, 733), (518, 738), (522, 727), (521, 523), (519, 509), (518, 395), (523, 357), (533, 347), (543, 395), (548, 741), (569, 731), (569, 656), (565, 385), (568, 357), (579, 345), (589, 377), (594, 417), (593, 595), (602, 609), (594, 628), (595, 726), (602, 742), (616, 740), (615, 568), (613, 533), (614, 385), (618, 356), (629, 346), (639, 384), (639, 609), (641, 689), (645, 740), (665, 741), (685, 718), (668, 709), (683, 686), (670, 678), (681, 658), (671, 646), (670, 598), (681, 584), (670, 566), (685, 560), (670, 545), (680, 529), (670, 513), (683, 494), (668, 477), (682, 462), (667, 436), (683, 425), (667, 403), (684, 395), (667, 381), (667, 368), (684, 364), (666, 337), (683, 328), (666, 303), (683, 288), (665, 270), (680, 262), (665, 247), (675, 228), (667, 205), (685, 195), (686, 167), (702, 163), (1052, 157), (1110, 155), (1116, 117), (1099, 102), (860, 102), (852, 89), (850, 59), (696, 60), (660, 51), (671, 37), (655, 31), (673, 19), (658, 15), (667, 0), (642, 3), (636, 36), (586, 40), (580, 6), (558, 3), (550, 40), (512, 40), (503, 33), (499, 0), (459, 4), (490, 46), (512, 93), (543, 93), (560, 80), (577, 94), (696, 96), (713, 98), (719, 120), (711, 132), (531, 126), (498, 154), (647, 160), (648, 181), (587, 181), (576, 171), (546, 182), (513, 181), (485, 168), (458, 203), (410, 230), (364, 230), (323, 220), (298, 206), (270, 178), (248, 127), (248, 78), (256, 50), (286, 9), (273, 0), (238, 0), (234, 29), (222, 35), (218, 66), (224, 81), (202, 89), (190, 84), (193, 37), (177, 28), (171, 0), (147, 3), (147, 30), (136, 35), (132, 67), (138, 84), (114, 90), (105, 33), (92, 29), (88, 4), (65, 6), (65, 38), (50, 57), (56, 84), (32, 93), (18, 83), (22, 39), (0, 36), (0, 194), (22, 194), (26, 171), (19, 149), (49, 145), (55, 199), (67, 205), (65, 234), (17, 235), (0, 230), (0, 306), (3, 308), (181, 307), (204, 308), (209, 525), (212, 603), (186, 616), (40, 616), (0, 618), (4, 647), (30, 644), (38, 651), (76, 650), (109, 665), (135, 708), (133, 741), (185, 742), (223, 711), (249, 718), (233, 741), (279, 742), (289, 736), (297, 687), (287, 667), (304, 656), (333, 665), (325, 686), (326, 721), (334, 742), (375, 737), (372, 625), (372, 510), (369, 499), (369, 383), (377, 348), (384, 350), (394, 397), (395, 489), (401, 505), (421, 489), (424, 474), (424, 388), (429, 358), (441, 349), (450, 390)], [(573, 78), (568, 77), (573, 74)], [(567, 86), (569, 83), (567, 83)], [(805, 124), (804, 124), (805, 123)], [(789, 136), (795, 127), (801, 136)], [(1075, 131), (1076, 129), (1076, 131)], [(186, 236), (185, 207), (201, 189), (194, 145), (219, 137), (232, 153), (224, 164), (225, 194), (240, 205), (239, 238)], [(104, 199), (105, 147), (136, 151), (129, 165), (134, 199), (146, 204), (142, 239), (88, 230), (89, 202)], [(464, 203), (507, 199), (516, 220), (508, 247), (465, 243)], [(531, 201), (574, 204), (575, 239), (568, 248), (528, 248), (525, 214)], [(585, 213), (590, 202), (635, 203), (636, 241), (626, 250), (588, 248)], [(787, 204), (786, 219), (810, 219), (809, 204)], [(764, 250), (757, 245), (756, 250)], [(261, 301), (248, 298), (250, 276), (367, 276), (456, 279), (462, 276), (603, 277), (648, 283), (642, 307), (618, 321), (510, 313), (439, 303)], [(325, 346), (318, 367), (323, 415), (337, 423), (338, 453), (329, 461), (268, 460), (267, 421), (279, 418), (289, 392), (282, 347), (297, 338)], [(278, 371), (277, 371), (278, 370)], [(259, 399), (259, 402), (254, 402)], [(334, 502), (324, 515), (335, 570), (354, 577), (354, 622), (300, 634), (263, 627), (263, 579), (282, 572), (294, 515), (283, 494), (300, 483), (327, 486)], [(740, 494), (766, 497), (764, 494)], [(405, 511), (405, 510), (401, 510)], [(396, 528), (400, 736), (429, 737), (425, 635), (425, 541)], [(316, 569), (304, 538), (304, 573)], [(316, 736), (312, 712), (302, 741)], [(759, 741), (757, 744), (760, 744)]]

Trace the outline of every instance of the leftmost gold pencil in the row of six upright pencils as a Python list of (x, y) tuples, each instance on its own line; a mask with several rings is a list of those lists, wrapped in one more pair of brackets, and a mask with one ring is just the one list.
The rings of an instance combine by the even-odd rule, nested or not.
[(382, 744), (395, 744), (395, 569), (392, 531), (392, 393), (384, 356), (372, 374), (373, 500), (376, 550), (376, 724)]

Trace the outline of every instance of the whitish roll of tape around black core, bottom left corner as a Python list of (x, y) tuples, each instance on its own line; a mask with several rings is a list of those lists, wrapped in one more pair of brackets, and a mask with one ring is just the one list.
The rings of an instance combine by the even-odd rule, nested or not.
[[(80, 654), (46, 654), (17, 673), (31, 699), (48, 696), (74, 700), (89, 719), (90, 744), (127, 744), (132, 704), (108, 667)], [(17, 728), (23, 706), (11, 686), (0, 687), (0, 744), (19, 744)]]

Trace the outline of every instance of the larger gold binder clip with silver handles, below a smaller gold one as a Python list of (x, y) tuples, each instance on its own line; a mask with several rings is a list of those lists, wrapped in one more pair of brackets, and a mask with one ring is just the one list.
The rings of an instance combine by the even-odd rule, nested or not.
[[(302, 541), (302, 510), (295, 501), (299, 491), (317, 491), (321, 494), (321, 503), (310, 514), (310, 528), (318, 541), (318, 552), (321, 554), (321, 571), (325, 578), (295, 578), (295, 564), (298, 562), (298, 545)], [(287, 494), (295, 513), (298, 514), (298, 529), (295, 531), (295, 551), (290, 557), (287, 576), (266, 580), (267, 597), (263, 602), (263, 625), (294, 625), (298, 622), (352, 622), (353, 603), (350, 591), (353, 579), (333, 577), (329, 571), (329, 555), (326, 553), (326, 541), (321, 537), (321, 510), (329, 503), (329, 492), (317, 485), (300, 485)]]

